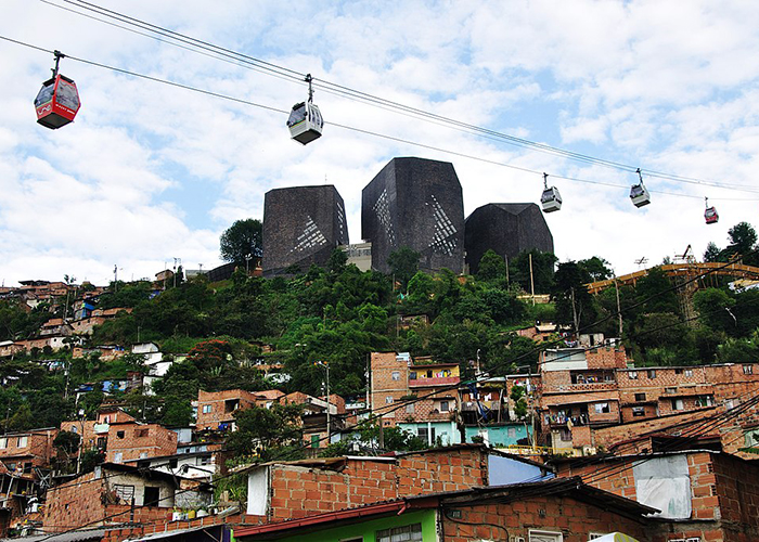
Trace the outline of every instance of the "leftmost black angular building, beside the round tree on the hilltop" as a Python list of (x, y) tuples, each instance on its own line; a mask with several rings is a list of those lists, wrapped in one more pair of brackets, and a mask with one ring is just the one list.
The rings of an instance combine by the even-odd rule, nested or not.
[(347, 244), (345, 204), (332, 184), (274, 189), (263, 196), (263, 276), (291, 266), (324, 267), (332, 250)]

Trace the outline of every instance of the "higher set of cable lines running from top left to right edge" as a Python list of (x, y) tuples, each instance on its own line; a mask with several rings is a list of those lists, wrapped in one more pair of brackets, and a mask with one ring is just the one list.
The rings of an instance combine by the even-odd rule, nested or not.
[[(43, 3), (49, 4), (49, 5), (57, 7), (61, 9), (66, 9), (65, 7), (61, 7), (59, 4), (55, 4), (55, 3), (51, 2), (50, 0), (40, 0), (40, 1), (42, 1)], [(158, 36), (162, 36), (163, 38), (176, 40), (179, 43), (184, 43), (185, 46), (192, 46), (192, 47), (198, 48), (202, 51), (214, 52), (216, 55), (226, 56), (228, 59), (234, 59), (236, 61), (236, 63), (242, 62), (242, 63), (249, 64), (252, 66), (257, 67), (262, 73), (267, 73), (269, 75), (275, 75), (279, 77), (284, 76), (284, 77), (293, 78), (293, 79), (297, 78), (300, 81), (303, 81), (304, 77), (305, 77), (304, 74), (298, 73), (294, 69), (291, 69), (291, 68), (287, 68), (287, 67), (284, 67), (281, 65), (276, 65), (276, 64), (273, 64), (270, 62), (266, 62), (266, 61), (262, 61), (260, 59), (256, 59), (254, 56), (250, 56), (250, 55), (247, 55), (244, 53), (239, 53), (236, 51), (233, 51), (233, 50), (220, 47), (220, 46), (216, 46), (216, 44), (208, 42), (208, 41), (192, 38), (192, 37), (186, 36), (184, 34), (180, 34), (180, 33), (170, 30), (168, 28), (165, 28), (165, 27), (162, 27), (158, 25), (153, 25), (151, 23), (146, 23), (146, 22), (141, 21), (139, 18), (131, 17), (131, 16), (125, 15), (123, 13), (119, 13), (117, 11), (113, 11), (113, 10), (108, 10), (108, 9), (99, 7), (97, 4), (93, 4), (91, 2), (87, 2), (85, 0), (76, 0), (76, 1), (75, 0), (63, 0), (63, 1), (70, 4), (70, 5), (76, 5), (77, 8), (85, 9), (85, 10), (98, 13), (99, 15), (116, 20), (120, 23), (137, 26), (138, 28), (146, 30), (149, 33), (157, 34)], [(77, 12), (75, 10), (70, 10), (70, 9), (66, 9), (66, 10), (70, 11), (73, 13), (79, 14), (79, 15), (94, 18), (95, 21), (99, 21), (99, 22), (107, 23), (107, 22), (102, 21), (98, 17), (92, 17), (92, 16), (89, 16), (87, 14)], [(111, 24), (111, 23), (107, 23), (107, 24)], [(132, 31), (131, 29), (125, 28), (120, 25), (115, 25), (115, 26)], [(139, 34), (141, 36), (146, 36), (150, 38), (158, 39), (159, 41), (162, 41), (164, 43), (173, 44), (176, 47), (182, 47), (182, 49), (188, 49), (188, 47), (180, 46), (178, 43), (175, 43), (173, 41), (168, 41), (166, 39), (159, 39), (159, 38), (156, 38), (156, 37), (151, 36), (151, 35), (145, 35), (144, 33), (137, 33), (137, 34)], [(193, 49), (190, 49), (190, 50), (195, 51)], [(223, 60), (223, 59), (219, 59), (219, 60)], [(452, 119), (449, 117), (445, 117), (441, 115), (429, 113), (429, 112), (426, 112), (424, 109), (411, 107), (411, 106), (408, 106), (408, 105), (404, 105), (404, 104), (401, 104), (401, 103), (398, 103), (398, 102), (395, 102), (391, 100), (386, 100), (386, 99), (383, 99), (381, 96), (376, 96), (373, 94), (369, 94), (366, 92), (355, 90), (355, 89), (351, 89), (351, 88), (343, 86), (343, 85), (330, 82), (330, 81), (324, 80), (324, 79), (313, 78), (313, 81), (314, 81), (314, 86), (321, 87), (322, 90), (324, 90), (324, 91), (342, 94), (344, 96), (347, 96), (347, 98), (350, 98), (353, 100), (360, 100), (360, 101), (363, 101), (365, 103), (369, 103), (370, 105), (376, 105), (376, 106), (381, 106), (383, 108), (390, 107), (391, 109), (400, 112), (401, 114), (407, 114), (407, 115), (411, 114), (412, 116), (414, 116), (414, 118), (421, 118), (422, 120), (435, 121), (436, 124), (442, 122), (445, 125), (449, 125), (449, 126), (454, 127), (456, 129), (464, 129), (466, 131), (469, 131), (469, 132), (473, 132), (473, 133), (476, 133), (479, 136), (488, 137), (489, 139), (498, 139), (500, 141), (504, 141), (506, 143), (514, 144), (514, 145), (517, 145), (520, 147), (532, 149), (532, 150), (536, 150), (536, 151), (539, 151), (542, 153), (552, 154), (555, 156), (561, 156), (561, 157), (578, 160), (578, 162), (586, 163), (586, 164), (593, 164), (593, 165), (599, 165), (599, 166), (603, 166), (603, 167), (614, 168), (616, 170), (621, 170), (621, 171), (625, 171), (628, 173), (632, 173), (632, 172), (638, 171), (638, 168), (635, 166), (626, 165), (626, 164), (622, 164), (619, 162), (607, 160), (607, 159), (603, 159), (603, 158), (596, 158), (596, 157), (593, 157), (591, 155), (577, 153), (577, 152), (573, 152), (573, 151), (567, 151), (567, 150), (554, 147), (554, 146), (551, 146), (551, 145), (548, 145), (544, 143), (538, 143), (538, 142), (530, 141), (527, 139), (517, 138), (514, 136), (509, 136), (509, 134), (501, 133), (501, 132), (498, 132), (494, 130), (481, 128), (481, 127), (478, 127), (478, 126), (475, 126), (475, 125), (472, 125), (468, 122), (464, 122), (461, 120), (455, 120), (455, 119)], [(729, 188), (731, 190), (743, 190), (746, 192), (758, 192), (755, 186), (746, 185), (746, 184), (718, 183), (718, 182), (709, 181), (709, 180), (705, 180), (705, 179), (698, 179), (698, 178), (686, 177), (686, 176), (679, 176), (679, 175), (673, 175), (673, 173), (666, 173), (666, 172), (661, 172), (661, 171), (647, 170), (647, 169), (645, 170), (645, 173), (648, 177), (655, 177), (655, 178), (659, 178), (662, 180), (669, 180), (669, 181), (674, 181), (674, 182), (697, 184), (697, 185), (711, 186), (711, 188)]]

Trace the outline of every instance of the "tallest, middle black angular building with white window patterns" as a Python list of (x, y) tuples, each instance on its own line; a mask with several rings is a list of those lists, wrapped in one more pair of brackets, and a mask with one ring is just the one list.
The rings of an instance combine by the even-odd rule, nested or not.
[(393, 158), (363, 189), (361, 236), (372, 243), (372, 269), (389, 272), (387, 257), (407, 246), (420, 269), (464, 268), (464, 202), (453, 165)]

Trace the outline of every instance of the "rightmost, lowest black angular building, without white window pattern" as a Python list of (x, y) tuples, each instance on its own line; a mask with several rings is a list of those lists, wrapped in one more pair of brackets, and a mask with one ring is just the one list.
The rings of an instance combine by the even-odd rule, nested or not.
[(501, 257), (514, 258), (536, 248), (553, 253), (553, 235), (536, 204), (488, 204), (466, 218), (466, 263), (475, 274), (483, 255), (492, 248)]

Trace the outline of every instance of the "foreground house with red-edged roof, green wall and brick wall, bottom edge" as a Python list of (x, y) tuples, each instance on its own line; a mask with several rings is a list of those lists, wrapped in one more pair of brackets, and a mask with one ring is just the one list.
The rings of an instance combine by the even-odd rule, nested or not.
[(579, 479), (406, 496), (299, 520), (235, 529), (241, 542), (391, 540), (584, 542), (623, 531), (653, 542), (647, 515), (657, 512)]

